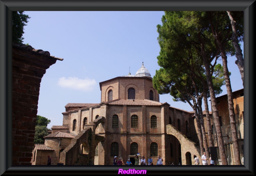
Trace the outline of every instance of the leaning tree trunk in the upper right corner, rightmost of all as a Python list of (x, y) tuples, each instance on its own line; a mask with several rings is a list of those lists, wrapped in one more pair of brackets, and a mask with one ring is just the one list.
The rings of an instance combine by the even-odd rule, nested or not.
[(227, 13), (228, 13), (228, 17), (230, 19), (230, 23), (232, 26), (232, 44), (236, 50), (236, 59), (237, 60), (235, 61), (235, 63), (238, 66), (238, 69), (240, 71), (241, 78), (243, 81), (243, 86), (244, 86), (244, 57), (243, 57), (243, 53), (242, 53), (242, 50), (240, 48), (240, 45), (239, 45), (239, 42), (237, 39), (236, 24), (235, 24), (236, 22), (234, 21), (230, 11), (227, 11)]

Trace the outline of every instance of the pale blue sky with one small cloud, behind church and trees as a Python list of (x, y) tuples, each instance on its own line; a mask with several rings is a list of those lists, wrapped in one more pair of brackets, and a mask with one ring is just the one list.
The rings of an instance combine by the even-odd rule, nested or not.
[[(151, 76), (160, 67), (156, 26), (164, 11), (25, 11), (31, 17), (24, 28), (24, 43), (49, 51), (57, 60), (44, 74), (38, 113), (62, 125), (67, 103), (100, 103), (99, 83), (135, 73), (142, 62)], [(241, 45), (243, 50), (243, 43)], [(228, 57), (233, 91), (243, 88), (236, 57)], [(222, 94), (227, 94), (222, 86)], [(169, 94), (160, 102), (193, 111), (188, 103), (173, 102)], [(210, 105), (210, 104), (209, 104)], [(204, 108), (204, 107), (203, 107)]]

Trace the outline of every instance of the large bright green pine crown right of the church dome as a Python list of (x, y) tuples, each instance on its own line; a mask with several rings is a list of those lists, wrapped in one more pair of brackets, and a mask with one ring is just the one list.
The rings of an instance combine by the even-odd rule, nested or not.
[[(165, 11), (163, 25), (157, 25), (161, 68), (153, 77), (153, 86), (159, 94), (170, 93), (174, 101), (190, 101), (200, 96), (207, 85), (203, 65), (202, 44), (205, 57), (210, 61), (220, 57), (220, 51), (209, 29), (209, 16), (204, 11)], [(227, 51), (233, 48), (227, 44)], [(221, 93), (224, 84), (221, 65), (212, 65), (215, 93)], [(207, 92), (209, 95), (209, 92)]]

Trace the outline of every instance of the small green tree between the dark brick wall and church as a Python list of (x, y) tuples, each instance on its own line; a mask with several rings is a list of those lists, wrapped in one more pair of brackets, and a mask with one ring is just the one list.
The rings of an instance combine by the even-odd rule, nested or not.
[(47, 125), (51, 122), (45, 117), (36, 116), (36, 130), (35, 130), (35, 138), (34, 144), (43, 144), (44, 143), (44, 136), (47, 136), (50, 129), (47, 128)]

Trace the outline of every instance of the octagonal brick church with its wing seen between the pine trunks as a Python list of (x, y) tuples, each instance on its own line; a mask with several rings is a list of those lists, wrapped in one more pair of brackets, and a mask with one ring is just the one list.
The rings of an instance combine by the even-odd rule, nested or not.
[[(52, 126), (44, 144), (34, 145), (32, 165), (46, 165), (48, 155), (52, 165), (113, 165), (115, 156), (122, 158), (124, 164), (130, 159), (134, 165), (135, 155), (139, 159), (144, 156), (146, 162), (151, 156), (154, 165), (159, 155), (164, 165), (194, 165), (193, 156), (200, 158), (194, 112), (160, 103), (143, 63), (135, 75), (129, 73), (100, 82), (100, 90), (101, 103), (65, 106), (63, 125)], [(242, 92), (239, 90), (240, 104)], [(242, 149), (243, 104), (235, 105)], [(223, 128), (223, 135), (227, 132), (230, 137), (228, 117), (226, 112), (220, 111), (220, 116), (221, 113), (223, 126), (227, 127)], [(211, 123), (213, 130), (212, 120)], [(206, 124), (205, 128), (207, 132)], [(214, 133), (213, 138), (216, 139)], [(232, 165), (232, 140), (224, 138), (224, 142)], [(216, 140), (214, 144), (217, 146)]]

